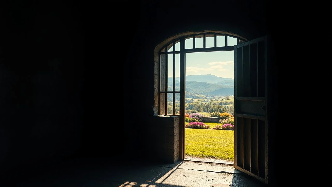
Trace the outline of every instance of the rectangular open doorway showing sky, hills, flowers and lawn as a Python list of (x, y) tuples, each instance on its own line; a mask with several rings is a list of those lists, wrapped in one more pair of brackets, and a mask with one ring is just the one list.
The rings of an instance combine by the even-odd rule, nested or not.
[(185, 160), (234, 164), (234, 51), (186, 54)]

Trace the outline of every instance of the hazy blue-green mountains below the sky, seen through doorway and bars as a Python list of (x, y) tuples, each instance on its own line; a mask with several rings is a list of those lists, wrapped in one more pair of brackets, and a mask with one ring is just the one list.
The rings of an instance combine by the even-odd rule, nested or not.
[[(173, 78), (168, 78), (169, 88), (173, 87)], [(179, 90), (180, 78), (175, 78), (175, 87)], [(187, 97), (190, 94), (201, 95), (233, 95), (234, 79), (208, 75), (188, 75), (186, 76)], [(188, 97), (189, 98), (189, 97)]]

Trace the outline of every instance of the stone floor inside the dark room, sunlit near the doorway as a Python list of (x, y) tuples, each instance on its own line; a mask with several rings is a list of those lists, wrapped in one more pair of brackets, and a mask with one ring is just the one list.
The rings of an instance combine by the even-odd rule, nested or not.
[[(23, 174), (16, 187), (264, 187), (233, 165), (181, 161), (114, 165), (79, 162)], [(9, 185), (6, 185), (9, 186)]]

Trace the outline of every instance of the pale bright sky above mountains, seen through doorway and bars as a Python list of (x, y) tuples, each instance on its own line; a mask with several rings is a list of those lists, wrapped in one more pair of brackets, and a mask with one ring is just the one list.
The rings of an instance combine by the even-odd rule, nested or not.
[[(228, 46), (236, 45), (236, 39), (228, 37)], [(196, 38), (196, 48), (203, 48), (203, 38)], [(178, 43), (179, 44), (179, 43)], [(225, 46), (225, 37), (217, 36), (217, 47)], [(178, 51), (180, 45), (175, 45)], [(206, 38), (206, 47), (214, 47), (213, 37)], [(177, 49), (178, 48), (178, 49)], [(193, 39), (186, 40), (186, 49), (193, 48)], [(168, 51), (173, 51), (173, 47)], [(168, 55), (168, 77), (173, 77), (173, 54)], [(180, 77), (180, 54), (175, 54), (175, 77)], [(234, 79), (234, 51), (186, 53), (186, 75), (212, 74)]]

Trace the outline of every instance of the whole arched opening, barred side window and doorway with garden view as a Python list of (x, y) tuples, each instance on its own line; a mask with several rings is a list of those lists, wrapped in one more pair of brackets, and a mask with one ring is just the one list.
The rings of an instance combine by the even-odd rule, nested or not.
[(159, 51), (158, 114), (180, 115), (182, 160), (234, 164), (234, 46), (243, 42), (202, 33)]

